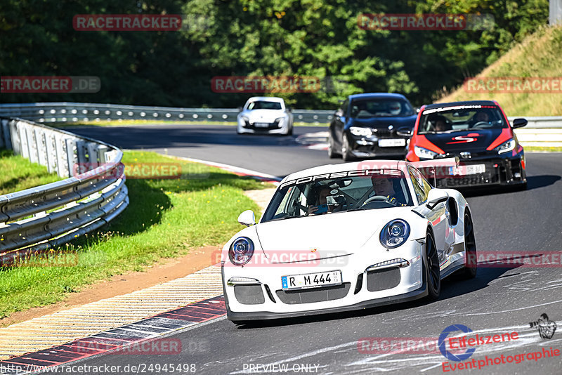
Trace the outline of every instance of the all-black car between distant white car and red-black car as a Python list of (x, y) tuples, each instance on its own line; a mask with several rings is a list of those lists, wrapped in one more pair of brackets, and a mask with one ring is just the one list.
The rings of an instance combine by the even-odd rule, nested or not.
[(396, 93), (348, 96), (329, 124), (328, 156), (350, 161), (370, 157), (404, 157), (416, 111)]

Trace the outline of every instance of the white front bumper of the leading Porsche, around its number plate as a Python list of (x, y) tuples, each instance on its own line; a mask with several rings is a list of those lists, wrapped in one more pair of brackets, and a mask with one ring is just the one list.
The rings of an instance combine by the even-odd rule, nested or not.
[[(233, 321), (299, 317), (412, 301), (427, 295), (423, 244), (411, 239), (398, 249), (376, 249), (322, 260), (260, 267), (223, 266), (227, 317)], [(398, 263), (396, 260), (407, 261)], [(393, 261), (388, 265), (388, 261)], [(384, 265), (384, 263), (387, 263)], [(283, 290), (281, 277), (340, 270), (341, 284)]]

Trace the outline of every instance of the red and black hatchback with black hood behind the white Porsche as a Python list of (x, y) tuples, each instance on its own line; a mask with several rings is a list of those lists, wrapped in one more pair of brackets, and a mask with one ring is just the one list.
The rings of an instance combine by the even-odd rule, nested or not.
[[(437, 187), (514, 185), (525, 189), (525, 152), (514, 129), (526, 124), (526, 119), (510, 124), (495, 100), (424, 105), (406, 159), (436, 162), (433, 176), (429, 170), (420, 171)], [(459, 166), (438, 166), (439, 159), (455, 156)]]

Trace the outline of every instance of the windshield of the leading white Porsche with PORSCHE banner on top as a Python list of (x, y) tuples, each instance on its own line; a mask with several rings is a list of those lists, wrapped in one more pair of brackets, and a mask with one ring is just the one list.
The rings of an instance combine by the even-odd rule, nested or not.
[[(358, 173), (363, 173), (363, 176), (357, 176)], [(329, 178), (334, 174), (338, 177)], [(413, 205), (407, 180), (397, 169), (332, 175), (310, 176), (283, 183), (271, 199), (261, 222)], [(344, 175), (346, 177), (339, 177)]]

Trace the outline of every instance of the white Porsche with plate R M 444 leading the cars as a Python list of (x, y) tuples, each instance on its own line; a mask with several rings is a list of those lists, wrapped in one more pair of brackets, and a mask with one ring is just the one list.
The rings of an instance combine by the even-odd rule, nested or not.
[(469, 204), (457, 190), (431, 187), (415, 163), (292, 173), (259, 223), (252, 211), (238, 221), (247, 228), (223, 247), (221, 262), (233, 322), (438, 298), (452, 272), (476, 276)]

